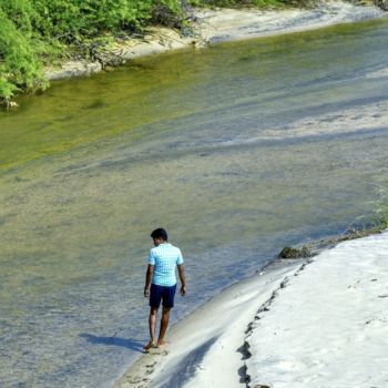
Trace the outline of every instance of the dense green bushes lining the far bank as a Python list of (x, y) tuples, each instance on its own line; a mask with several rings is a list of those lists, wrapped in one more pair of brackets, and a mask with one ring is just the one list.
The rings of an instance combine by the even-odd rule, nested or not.
[[(0, 101), (48, 86), (43, 67), (65, 58), (94, 58), (119, 35), (147, 24), (185, 25), (184, 9), (278, 7), (294, 0), (0, 0)], [(304, 0), (297, 0), (304, 1)]]

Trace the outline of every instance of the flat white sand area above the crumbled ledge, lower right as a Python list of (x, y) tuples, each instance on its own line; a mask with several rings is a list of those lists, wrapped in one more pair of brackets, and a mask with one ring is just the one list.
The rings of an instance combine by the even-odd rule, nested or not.
[(251, 387), (388, 387), (388, 233), (314, 258), (246, 340)]

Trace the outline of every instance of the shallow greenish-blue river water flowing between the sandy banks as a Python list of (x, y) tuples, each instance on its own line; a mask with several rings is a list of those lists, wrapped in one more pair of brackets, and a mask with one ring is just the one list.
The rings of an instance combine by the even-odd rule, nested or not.
[(146, 339), (150, 232), (176, 320), (286, 244), (374, 218), (388, 22), (225, 43), (58, 82), (0, 113), (0, 380), (106, 386)]

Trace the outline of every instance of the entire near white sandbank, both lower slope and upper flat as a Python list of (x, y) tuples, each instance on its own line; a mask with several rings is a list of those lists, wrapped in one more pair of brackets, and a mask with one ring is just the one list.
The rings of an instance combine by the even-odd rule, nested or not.
[(386, 231), (273, 264), (180, 321), (171, 348), (140, 358), (114, 388), (382, 386), (387, 251)]

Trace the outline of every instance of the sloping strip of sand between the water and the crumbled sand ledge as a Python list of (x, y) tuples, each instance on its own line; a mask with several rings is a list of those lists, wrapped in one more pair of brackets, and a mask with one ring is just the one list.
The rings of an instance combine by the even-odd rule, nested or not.
[(110, 387), (249, 386), (248, 337), (256, 317), (268, 310), (290, 278), (319, 261), (320, 255), (354, 241), (388, 235), (385, 227), (351, 231), (314, 242), (309, 246), (313, 257), (275, 259), (259, 273), (228, 286), (171, 327), (167, 334), (169, 341), (173, 343), (171, 348), (143, 354)]

